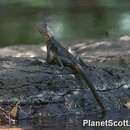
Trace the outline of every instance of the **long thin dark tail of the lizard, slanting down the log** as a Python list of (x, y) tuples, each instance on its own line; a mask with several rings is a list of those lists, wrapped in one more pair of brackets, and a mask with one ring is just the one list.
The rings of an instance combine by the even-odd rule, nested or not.
[(81, 77), (83, 78), (83, 80), (86, 82), (86, 84), (90, 88), (90, 90), (91, 90), (94, 98), (96, 99), (98, 105), (100, 106), (100, 108), (102, 110), (102, 113), (105, 113), (106, 112), (105, 106), (103, 105), (102, 101), (100, 100), (100, 97), (97, 94), (94, 85), (92, 84), (92, 82), (90, 81), (90, 79), (88, 78), (88, 76), (86, 75), (85, 71), (83, 70), (83, 68), (81, 67), (80, 64), (76, 65), (76, 70), (78, 71), (78, 73), (81, 75)]

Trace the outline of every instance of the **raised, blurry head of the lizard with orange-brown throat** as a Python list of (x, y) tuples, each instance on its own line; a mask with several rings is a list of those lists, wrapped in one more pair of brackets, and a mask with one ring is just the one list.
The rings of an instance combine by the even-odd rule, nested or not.
[(37, 29), (46, 41), (49, 40), (49, 38), (51, 37), (51, 33), (46, 22), (38, 23)]

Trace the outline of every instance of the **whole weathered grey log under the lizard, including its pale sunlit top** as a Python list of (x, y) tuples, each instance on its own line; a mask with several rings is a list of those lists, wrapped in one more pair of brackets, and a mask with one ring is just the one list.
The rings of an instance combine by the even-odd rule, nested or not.
[[(86, 61), (84, 70), (106, 109), (120, 109), (130, 101), (129, 39), (88, 40), (68, 47)], [(100, 112), (91, 91), (70, 68), (45, 61), (43, 45), (0, 48), (0, 104), (20, 98), (25, 111), (36, 116)]]

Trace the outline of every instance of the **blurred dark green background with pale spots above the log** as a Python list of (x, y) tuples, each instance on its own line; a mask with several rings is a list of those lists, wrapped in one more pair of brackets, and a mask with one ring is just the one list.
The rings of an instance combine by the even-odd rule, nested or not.
[(35, 23), (47, 19), (70, 42), (130, 34), (129, 0), (0, 0), (0, 46), (42, 42)]

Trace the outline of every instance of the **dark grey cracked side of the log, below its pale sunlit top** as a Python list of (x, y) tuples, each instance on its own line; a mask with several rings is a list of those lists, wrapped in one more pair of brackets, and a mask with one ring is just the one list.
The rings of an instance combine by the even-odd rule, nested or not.
[[(120, 109), (130, 100), (128, 69), (89, 64), (84, 70), (107, 110)], [(0, 104), (11, 105), (19, 98), (23, 109), (35, 109), (36, 116), (100, 111), (91, 91), (70, 68), (60, 70), (38, 57), (0, 57)]]

